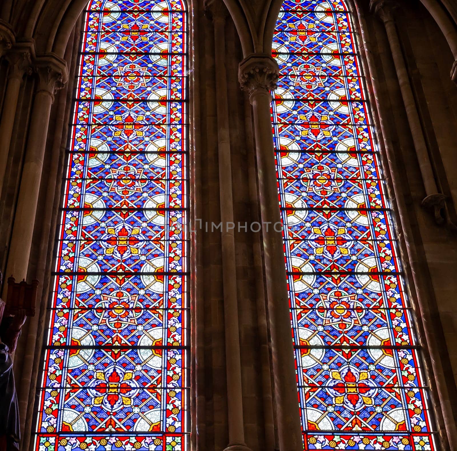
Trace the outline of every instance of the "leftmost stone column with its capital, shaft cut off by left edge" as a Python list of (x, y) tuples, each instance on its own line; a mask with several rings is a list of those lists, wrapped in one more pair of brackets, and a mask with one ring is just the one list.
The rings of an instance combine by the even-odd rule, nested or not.
[(31, 71), (30, 52), (23, 49), (10, 51), (6, 54), (10, 63), (8, 82), (6, 84), (5, 101), (0, 121), (0, 196), (5, 177), (6, 161), (10, 150), (11, 134), (16, 117), (17, 100), (21, 89), (22, 78), (26, 71)]

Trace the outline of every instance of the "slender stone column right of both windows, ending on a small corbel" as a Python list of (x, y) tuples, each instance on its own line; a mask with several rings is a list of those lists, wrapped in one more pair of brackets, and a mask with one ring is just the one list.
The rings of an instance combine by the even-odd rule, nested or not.
[(424, 132), (422, 130), (422, 124), (420, 123), (420, 117), (417, 111), (413, 90), (409, 82), (409, 74), (406, 68), (397, 28), (393, 18), (393, 10), (397, 7), (397, 5), (393, 2), (393, 0), (371, 0), (370, 7), (379, 15), (386, 27), (393, 63), (397, 72), (397, 78), (399, 80), (409, 128), (411, 129), (420, 173), (424, 183), (426, 197), (422, 200), (422, 205), (432, 210), (437, 224), (443, 224), (448, 219), (446, 213), (446, 197), (438, 191), (438, 187), (436, 185), (435, 175), (433, 173)]

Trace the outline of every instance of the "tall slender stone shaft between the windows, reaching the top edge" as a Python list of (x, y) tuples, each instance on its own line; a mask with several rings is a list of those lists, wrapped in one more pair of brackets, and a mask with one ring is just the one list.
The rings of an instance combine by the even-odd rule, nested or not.
[(222, 222), (222, 272), (224, 299), (225, 358), (227, 371), (228, 446), (225, 451), (250, 451), (244, 443), (243, 391), (239, 347), (239, 316), (236, 283), (235, 236), (232, 190), (227, 73), (225, 68), (225, 19), (228, 10), (222, 0), (205, 1), (213, 19), (216, 109), (218, 115), (219, 189)]

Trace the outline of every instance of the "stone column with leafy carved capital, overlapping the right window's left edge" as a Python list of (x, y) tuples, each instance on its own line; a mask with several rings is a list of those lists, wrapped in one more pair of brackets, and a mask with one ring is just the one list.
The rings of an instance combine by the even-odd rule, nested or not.
[(278, 73), (276, 62), (267, 54), (251, 54), (239, 66), (241, 88), (250, 93), (253, 107), (279, 448), (301, 451), (303, 438), (282, 233), (273, 228), (281, 222), (270, 114), (270, 90), (276, 88)]

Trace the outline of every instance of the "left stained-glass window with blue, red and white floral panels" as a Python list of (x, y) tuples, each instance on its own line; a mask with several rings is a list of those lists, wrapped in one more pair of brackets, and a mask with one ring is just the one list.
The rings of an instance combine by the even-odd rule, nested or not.
[(187, 448), (187, 13), (85, 12), (36, 450)]

